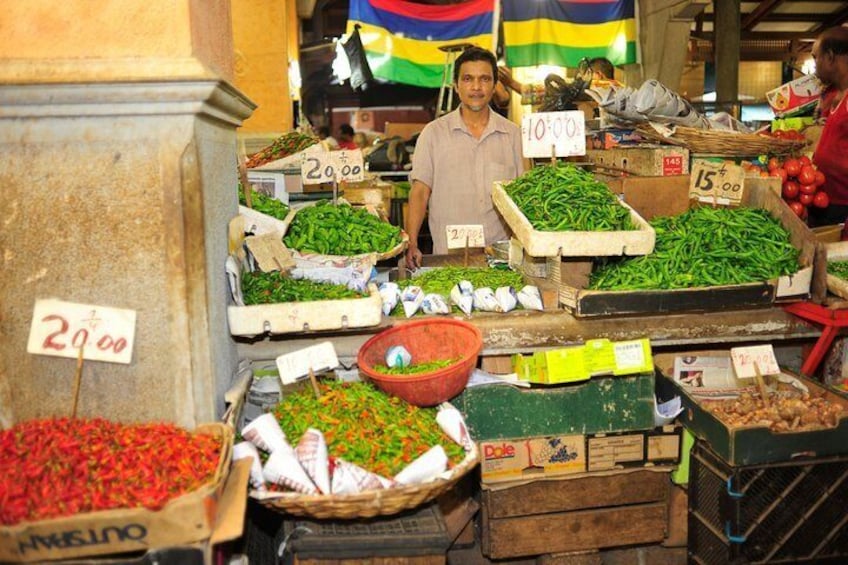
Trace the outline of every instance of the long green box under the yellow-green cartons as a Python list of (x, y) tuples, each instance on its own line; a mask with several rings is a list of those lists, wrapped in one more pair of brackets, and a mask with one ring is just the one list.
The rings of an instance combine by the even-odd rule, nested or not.
[(451, 402), (477, 441), (646, 430), (654, 427), (654, 373), (544, 388), (474, 386)]

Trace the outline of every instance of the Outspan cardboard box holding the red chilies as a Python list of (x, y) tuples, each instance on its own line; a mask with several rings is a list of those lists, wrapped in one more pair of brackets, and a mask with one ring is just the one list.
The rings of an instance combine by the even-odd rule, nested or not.
[[(232, 458), (233, 431), (204, 424), (198, 433), (219, 437), (214, 478), (158, 511), (120, 508), (0, 527), (0, 562), (32, 563), (89, 555), (145, 551), (210, 539), (216, 527)], [(245, 477), (246, 478), (246, 477)], [(246, 483), (244, 485), (246, 487)], [(241, 493), (244, 498), (244, 493)], [(236, 536), (237, 537), (237, 536)]]

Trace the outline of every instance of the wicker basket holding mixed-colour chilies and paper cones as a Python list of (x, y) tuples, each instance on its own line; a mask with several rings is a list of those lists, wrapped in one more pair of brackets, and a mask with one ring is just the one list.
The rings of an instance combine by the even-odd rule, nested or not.
[(465, 459), (450, 471), (446, 479), (427, 483), (372, 490), (358, 494), (300, 494), (296, 492), (258, 494), (251, 496), (267, 508), (311, 518), (372, 518), (388, 516), (415, 508), (445, 493), (479, 461), (477, 444)]

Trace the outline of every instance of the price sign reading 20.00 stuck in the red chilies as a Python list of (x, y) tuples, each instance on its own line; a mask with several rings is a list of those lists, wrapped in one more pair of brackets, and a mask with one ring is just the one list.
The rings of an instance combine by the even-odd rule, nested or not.
[(37, 300), (27, 353), (128, 364), (135, 340), (135, 310)]

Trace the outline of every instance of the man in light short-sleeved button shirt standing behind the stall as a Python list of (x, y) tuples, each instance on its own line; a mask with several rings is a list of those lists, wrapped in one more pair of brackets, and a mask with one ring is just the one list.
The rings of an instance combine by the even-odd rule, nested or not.
[(448, 225), (482, 225), (487, 245), (506, 239), (507, 225), (492, 204), (492, 184), (524, 172), (521, 129), (489, 107), (498, 80), (495, 56), (469, 47), (454, 63), (453, 80), (459, 108), (425, 126), (412, 157), (406, 216), (411, 269), (421, 265), (418, 232), (428, 204), (437, 255), (447, 253)]

